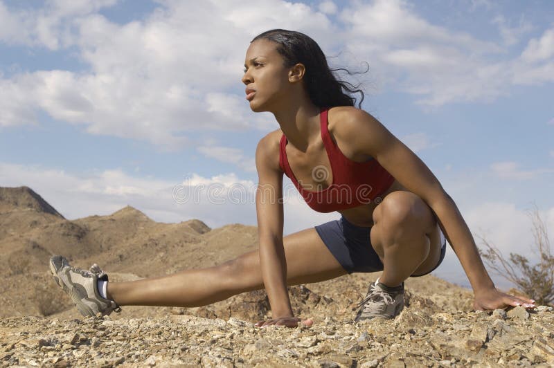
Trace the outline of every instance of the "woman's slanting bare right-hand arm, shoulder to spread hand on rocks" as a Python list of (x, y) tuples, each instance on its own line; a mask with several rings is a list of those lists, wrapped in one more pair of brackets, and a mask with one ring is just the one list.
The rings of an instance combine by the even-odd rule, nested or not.
[(355, 149), (360, 153), (373, 156), (407, 190), (418, 194), (436, 214), (440, 228), (456, 252), (474, 289), (476, 309), (489, 309), (489, 306), (499, 308), (502, 304), (517, 305), (530, 302), (530, 300), (501, 295), (501, 298), (497, 298), (496, 304), (494, 301), (485, 301), (481, 305), (481, 299), (487, 299), (488, 294), (498, 292), (485, 270), (470, 229), (452, 197), (445, 192), (429, 167), (373, 116), (365, 111), (349, 109), (343, 113), (343, 120), (346, 122), (346, 128), (342, 130), (346, 132), (345, 134), (348, 135), (346, 139), (352, 142)]

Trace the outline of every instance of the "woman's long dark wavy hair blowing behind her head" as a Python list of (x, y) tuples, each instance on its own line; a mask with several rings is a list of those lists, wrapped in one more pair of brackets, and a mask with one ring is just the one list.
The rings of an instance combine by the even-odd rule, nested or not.
[(352, 73), (344, 68), (329, 68), (325, 54), (309, 36), (294, 30), (273, 29), (260, 33), (251, 42), (257, 39), (275, 42), (278, 53), (285, 59), (285, 67), (304, 64), (307, 93), (317, 107), (354, 106), (357, 100), (352, 93), (361, 94), (358, 103), (358, 107), (361, 107), (364, 92), (334, 75), (335, 71), (346, 71), (348, 75)]

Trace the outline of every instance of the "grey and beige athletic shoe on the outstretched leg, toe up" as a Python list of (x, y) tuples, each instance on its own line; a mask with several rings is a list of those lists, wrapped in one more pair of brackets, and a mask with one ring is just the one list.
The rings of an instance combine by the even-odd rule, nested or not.
[(94, 264), (91, 271), (82, 270), (70, 266), (65, 257), (55, 255), (50, 259), (50, 272), (85, 317), (121, 311), (116, 302), (105, 299), (98, 293), (98, 280), (108, 281), (108, 275), (98, 265)]

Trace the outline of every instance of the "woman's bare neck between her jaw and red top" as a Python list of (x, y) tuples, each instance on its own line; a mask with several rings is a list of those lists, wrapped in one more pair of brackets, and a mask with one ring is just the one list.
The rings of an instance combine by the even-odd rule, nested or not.
[(319, 107), (312, 102), (292, 102), (285, 109), (274, 111), (274, 116), (296, 149), (305, 152), (319, 139)]

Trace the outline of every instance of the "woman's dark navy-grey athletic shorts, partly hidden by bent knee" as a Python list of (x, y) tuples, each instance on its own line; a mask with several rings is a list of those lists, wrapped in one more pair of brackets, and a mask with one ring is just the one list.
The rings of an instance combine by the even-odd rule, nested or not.
[[(371, 228), (356, 226), (341, 216), (339, 220), (322, 223), (315, 226), (315, 229), (325, 246), (348, 273), (369, 273), (383, 270), (382, 261), (371, 246), (369, 236)], [(446, 240), (442, 231), (440, 232), (440, 243), (443, 244), (440, 249), (440, 259), (429, 273), (434, 271), (445, 259)], [(423, 275), (412, 277), (419, 276)]]

